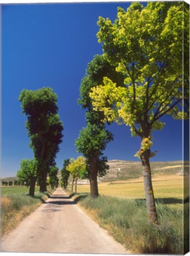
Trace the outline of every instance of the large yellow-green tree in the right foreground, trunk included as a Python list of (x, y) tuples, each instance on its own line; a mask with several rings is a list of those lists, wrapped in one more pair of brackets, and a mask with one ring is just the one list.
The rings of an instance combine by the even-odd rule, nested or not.
[(102, 17), (98, 22), (97, 37), (103, 56), (123, 73), (125, 87), (105, 76), (103, 83), (91, 90), (90, 98), (94, 110), (103, 111), (105, 121), (125, 123), (131, 127), (132, 135), (141, 139), (136, 156), (142, 161), (152, 223), (158, 221), (149, 162), (155, 155), (150, 152), (152, 132), (163, 128), (165, 124), (160, 119), (166, 114), (182, 116), (183, 5), (148, 2), (143, 8), (134, 2), (127, 11), (118, 8), (114, 23)]

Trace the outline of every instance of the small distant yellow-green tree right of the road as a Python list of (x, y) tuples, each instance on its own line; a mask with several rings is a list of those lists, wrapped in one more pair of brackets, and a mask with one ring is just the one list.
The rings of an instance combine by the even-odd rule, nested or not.
[(70, 159), (70, 164), (67, 165), (67, 171), (70, 172), (71, 176), (73, 177), (72, 182), (72, 191), (73, 191), (73, 184), (78, 178), (86, 178), (86, 159), (83, 156), (78, 156), (76, 160), (74, 158)]

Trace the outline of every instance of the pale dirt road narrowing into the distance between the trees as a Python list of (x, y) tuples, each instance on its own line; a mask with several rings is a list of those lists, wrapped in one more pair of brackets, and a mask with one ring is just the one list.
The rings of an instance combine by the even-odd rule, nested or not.
[(61, 188), (2, 238), (1, 252), (127, 254)]

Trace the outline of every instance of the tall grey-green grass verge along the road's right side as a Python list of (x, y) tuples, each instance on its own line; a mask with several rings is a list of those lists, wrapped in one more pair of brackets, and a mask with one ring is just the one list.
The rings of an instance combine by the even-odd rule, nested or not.
[(156, 203), (159, 226), (150, 225), (145, 200), (83, 197), (80, 206), (134, 254), (183, 254), (183, 207)]

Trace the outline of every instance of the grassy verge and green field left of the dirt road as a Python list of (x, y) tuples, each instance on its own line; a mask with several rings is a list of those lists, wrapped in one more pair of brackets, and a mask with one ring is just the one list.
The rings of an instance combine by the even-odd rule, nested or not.
[(1, 235), (14, 229), (53, 192), (48, 189), (46, 193), (35, 192), (35, 197), (31, 197), (28, 195), (28, 190), (29, 188), (26, 187), (1, 188)]

